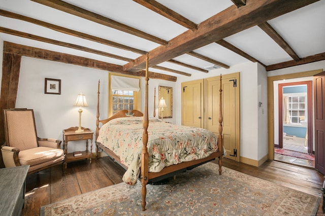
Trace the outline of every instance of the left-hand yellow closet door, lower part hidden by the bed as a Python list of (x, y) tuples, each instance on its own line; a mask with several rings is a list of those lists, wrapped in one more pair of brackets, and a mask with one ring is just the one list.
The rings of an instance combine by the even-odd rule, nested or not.
[(182, 125), (204, 127), (204, 80), (182, 83)]

